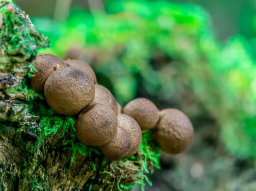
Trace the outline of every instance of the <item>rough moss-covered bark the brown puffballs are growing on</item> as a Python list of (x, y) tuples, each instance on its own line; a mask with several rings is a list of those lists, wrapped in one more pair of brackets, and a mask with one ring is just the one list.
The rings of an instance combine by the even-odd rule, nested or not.
[[(54, 131), (54, 124), (46, 136), (40, 129), (42, 118), (28, 105), (29, 100), (38, 101), (31, 101), (35, 92), (20, 86), (33, 71), (38, 50), (49, 42), (23, 11), (15, 8), (9, 13), (9, 4), (11, 0), (0, 3), (0, 190), (122, 190), (134, 181), (143, 185), (144, 172), (157, 163), (147, 145), (130, 159), (110, 162), (97, 152), (74, 156), (75, 151), (65, 146), (74, 132)], [(77, 148), (73, 140), (71, 148)]]

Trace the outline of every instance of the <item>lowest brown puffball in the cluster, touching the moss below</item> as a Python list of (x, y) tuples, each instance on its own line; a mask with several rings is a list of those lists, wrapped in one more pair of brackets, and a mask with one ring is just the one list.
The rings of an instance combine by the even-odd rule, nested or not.
[(130, 148), (130, 138), (126, 130), (117, 128), (117, 135), (106, 145), (100, 146), (100, 151), (110, 160), (121, 160)]

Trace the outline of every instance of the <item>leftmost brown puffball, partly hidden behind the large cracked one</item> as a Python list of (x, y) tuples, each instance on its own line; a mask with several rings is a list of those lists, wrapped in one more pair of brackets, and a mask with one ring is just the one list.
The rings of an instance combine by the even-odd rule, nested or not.
[(43, 93), (44, 83), (53, 71), (67, 67), (66, 63), (61, 58), (39, 53), (34, 61), (34, 66), (37, 69), (35, 76), (31, 77), (31, 88), (38, 93)]

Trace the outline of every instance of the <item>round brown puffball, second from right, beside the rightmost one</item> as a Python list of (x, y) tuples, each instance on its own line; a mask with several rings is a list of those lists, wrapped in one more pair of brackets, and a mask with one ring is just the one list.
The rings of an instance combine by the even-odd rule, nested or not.
[(156, 105), (146, 98), (137, 98), (129, 102), (124, 106), (123, 114), (133, 117), (141, 130), (153, 128), (159, 118)]

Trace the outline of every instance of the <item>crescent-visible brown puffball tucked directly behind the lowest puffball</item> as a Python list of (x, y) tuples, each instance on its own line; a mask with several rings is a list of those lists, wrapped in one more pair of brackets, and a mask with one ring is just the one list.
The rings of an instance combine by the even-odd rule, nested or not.
[(142, 139), (140, 126), (134, 118), (126, 114), (118, 114), (117, 122), (118, 127), (122, 127), (126, 130), (130, 138), (130, 149), (126, 154), (126, 157), (132, 156), (140, 147)]

